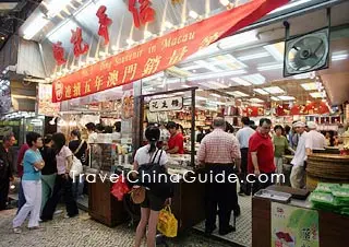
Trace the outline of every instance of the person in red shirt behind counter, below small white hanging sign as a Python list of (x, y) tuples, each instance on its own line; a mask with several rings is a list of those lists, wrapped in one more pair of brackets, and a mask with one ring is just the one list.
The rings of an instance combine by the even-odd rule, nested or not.
[(167, 129), (171, 137), (168, 140), (167, 153), (169, 154), (184, 154), (184, 138), (177, 129), (177, 125), (173, 121), (167, 124)]

